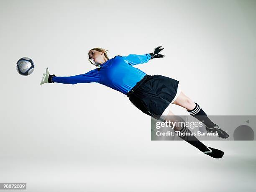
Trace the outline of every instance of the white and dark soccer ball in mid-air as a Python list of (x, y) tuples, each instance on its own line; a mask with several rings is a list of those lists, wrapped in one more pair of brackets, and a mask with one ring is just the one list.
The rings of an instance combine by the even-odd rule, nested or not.
[(35, 69), (35, 64), (28, 57), (20, 58), (16, 63), (16, 70), (21, 75), (30, 75)]

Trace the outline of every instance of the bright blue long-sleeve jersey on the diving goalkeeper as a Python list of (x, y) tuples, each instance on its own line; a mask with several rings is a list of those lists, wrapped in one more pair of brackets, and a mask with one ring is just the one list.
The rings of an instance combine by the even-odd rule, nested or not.
[(100, 68), (71, 77), (52, 77), (52, 82), (68, 84), (96, 82), (126, 95), (146, 75), (140, 69), (132, 66), (146, 63), (150, 58), (149, 54), (118, 55), (101, 64)]

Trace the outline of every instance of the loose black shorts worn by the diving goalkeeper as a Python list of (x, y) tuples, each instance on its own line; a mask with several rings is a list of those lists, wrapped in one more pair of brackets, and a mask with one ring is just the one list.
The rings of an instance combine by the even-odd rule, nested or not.
[(178, 84), (179, 81), (162, 75), (146, 75), (127, 96), (136, 108), (158, 120), (174, 99)]

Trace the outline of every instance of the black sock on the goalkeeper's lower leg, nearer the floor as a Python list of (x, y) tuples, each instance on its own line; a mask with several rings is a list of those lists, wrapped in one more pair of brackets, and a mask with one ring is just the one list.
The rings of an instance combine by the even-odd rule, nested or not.
[[(183, 133), (184, 136), (179, 135), (179, 133)], [(176, 132), (176, 134), (184, 141), (187, 141), (192, 146), (198, 148), (200, 151), (209, 151), (209, 149), (201, 141), (199, 141), (195, 136), (192, 135), (191, 131), (189, 131), (189, 129), (186, 126), (183, 126), (180, 131)]]

